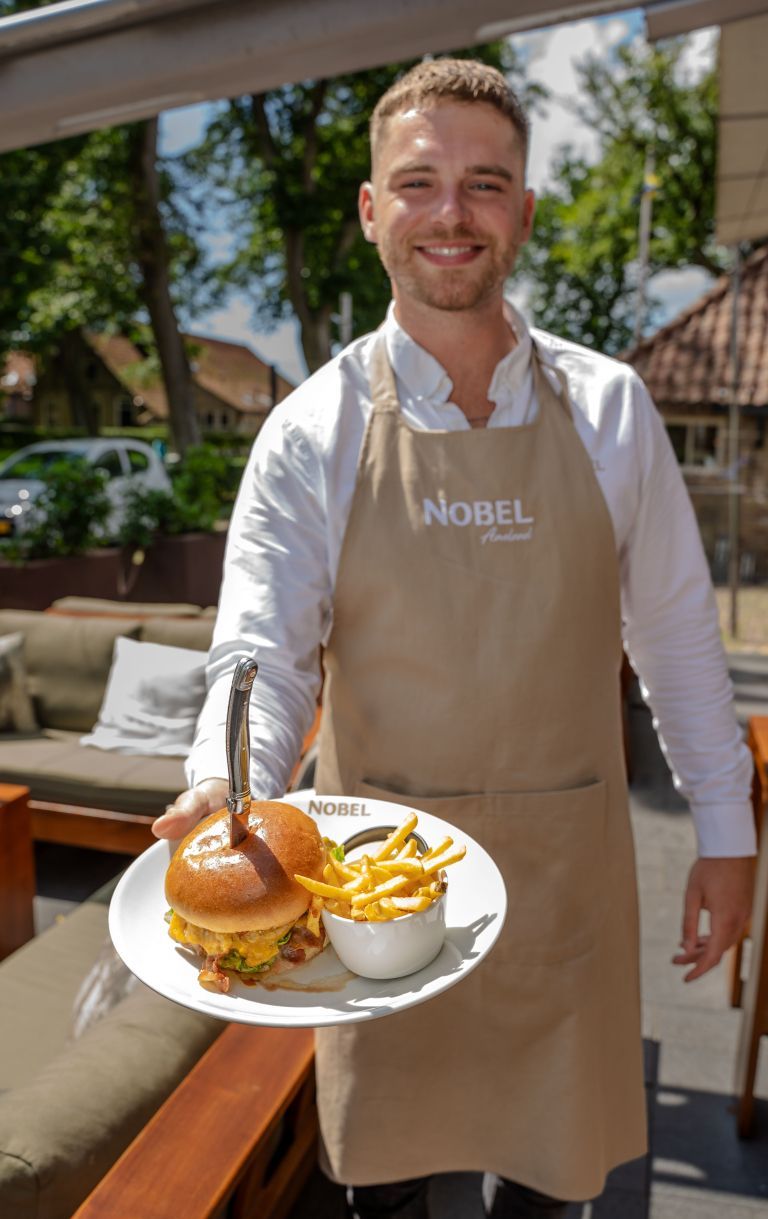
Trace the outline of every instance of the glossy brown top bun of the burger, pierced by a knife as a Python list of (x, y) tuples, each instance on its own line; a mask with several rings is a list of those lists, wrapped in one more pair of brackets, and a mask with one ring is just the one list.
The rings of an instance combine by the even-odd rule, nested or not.
[(211, 931), (266, 931), (295, 923), (310, 895), (294, 873), (322, 880), (325, 847), (315, 822), (278, 801), (252, 801), (247, 837), (229, 846), (226, 808), (182, 840), (166, 874), (166, 900)]

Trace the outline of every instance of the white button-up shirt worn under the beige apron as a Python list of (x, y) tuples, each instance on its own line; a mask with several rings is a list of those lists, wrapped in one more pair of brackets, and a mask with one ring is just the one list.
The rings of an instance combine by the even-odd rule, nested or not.
[[(625, 647), (675, 784), (690, 802), (700, 853), (750, 855), (751, 758), (733, 712), (699, 528), (661, 416), (627, 364), (529, 330), (511, 306), (508, 322), (518, 341), (494, 372), (488, 427), (535, 417), (535, 340), (545, 366), (567, 377), (574, 423), (611, 512)], [(384, 334), (407, 422), (468, 429), (445, 369), (399, 325), (391, 307)], [(318, 645), (333, 624), (339, 555), (372, 411), (372, 341), (357, 339), (310, 377), (272, 411), (254, 445), (229, 528), (190, 783), (227, 775), (232, 669), (235, 656), (249, 652), (260, 666), (251, 694), (251, 787), (261, 798), (285, 790), (315, 714)]]

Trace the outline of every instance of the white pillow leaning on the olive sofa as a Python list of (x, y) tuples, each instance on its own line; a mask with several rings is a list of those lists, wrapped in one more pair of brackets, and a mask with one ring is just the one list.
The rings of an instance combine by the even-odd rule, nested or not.
[(118, 635), (104, 702), (80, 745), (185, 757), (205, 698), (207, 652)]

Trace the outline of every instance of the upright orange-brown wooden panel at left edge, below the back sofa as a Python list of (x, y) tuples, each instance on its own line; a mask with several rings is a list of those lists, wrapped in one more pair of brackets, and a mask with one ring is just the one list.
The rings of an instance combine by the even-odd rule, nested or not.
[(34, 935), (29, 789), (0, 783), (0, 961)]

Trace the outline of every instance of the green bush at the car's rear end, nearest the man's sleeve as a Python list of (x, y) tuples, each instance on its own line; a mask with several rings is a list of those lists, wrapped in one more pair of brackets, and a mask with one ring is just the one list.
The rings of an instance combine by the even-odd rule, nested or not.
[(173, 472), (173, 491), (134, 486), (126, 497), (117, 541), (146, 550), (163, 534), (210, 531), (221, 516), (229, 462), (207, 445), (187, 450)]

